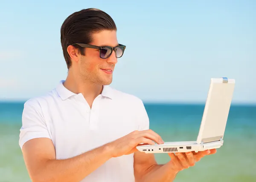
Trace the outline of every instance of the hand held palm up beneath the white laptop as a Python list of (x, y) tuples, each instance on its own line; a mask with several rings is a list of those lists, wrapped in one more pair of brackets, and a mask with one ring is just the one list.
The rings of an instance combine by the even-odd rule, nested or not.
[(215, 154), (216, 149), (211, 149), (207, 151), (199, 151), (195, 152), (186, 152), (186, 153), (168, 153), (171, 157), (171, 161), (169, 164), (171, 165), (172, 170), (174, 171), (182, 171), (183, 169), (194, 166), (196, 162), (200, 161), (200, 159), (206, 155)]

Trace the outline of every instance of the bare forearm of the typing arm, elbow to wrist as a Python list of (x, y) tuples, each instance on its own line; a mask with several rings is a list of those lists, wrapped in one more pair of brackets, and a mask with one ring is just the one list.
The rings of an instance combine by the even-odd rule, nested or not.
[(38, 168), (35, 182), (79, 182), (111, 158), (105, 145), (70, 159), (54, 159)]

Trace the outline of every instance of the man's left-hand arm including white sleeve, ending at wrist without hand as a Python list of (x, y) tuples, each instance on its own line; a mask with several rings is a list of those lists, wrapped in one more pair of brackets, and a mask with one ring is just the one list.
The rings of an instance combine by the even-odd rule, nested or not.
[(36, 100), (29, 100), (24, 105), (19, 144), (33, 182), (78, 182), (111, 158), (111, 151), (101, 146), (70, 159), (57, 160), (43, 112)]

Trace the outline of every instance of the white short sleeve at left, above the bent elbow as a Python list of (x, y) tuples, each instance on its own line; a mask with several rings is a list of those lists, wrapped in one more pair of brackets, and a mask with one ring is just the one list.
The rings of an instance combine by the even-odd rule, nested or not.
[(22, 113), (19, 145), (22, 149), (25, 142), (34, 138), (50, 138), (41, 107), (35, 100), (25, 102)]

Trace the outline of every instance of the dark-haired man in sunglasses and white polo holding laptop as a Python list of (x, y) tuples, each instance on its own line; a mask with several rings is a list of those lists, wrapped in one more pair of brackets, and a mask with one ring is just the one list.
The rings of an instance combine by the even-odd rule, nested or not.
[[(161, 144), (143, 102), (108, 85), (125, 46), (99, 9), (71, 14), (61, 26), (68, 76), (24, 104), (19, 145), (33, 182), (170, 182), (216, 150), (169, 154), (157, 165), (137, 145)], [(154, 142), (153, 142), (154, 141)]]

